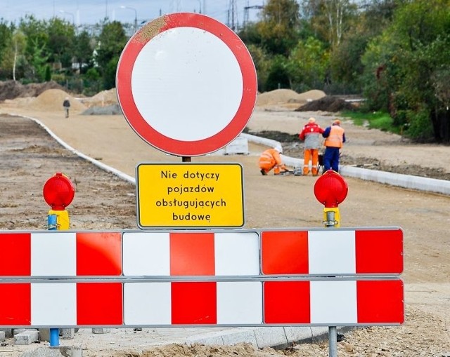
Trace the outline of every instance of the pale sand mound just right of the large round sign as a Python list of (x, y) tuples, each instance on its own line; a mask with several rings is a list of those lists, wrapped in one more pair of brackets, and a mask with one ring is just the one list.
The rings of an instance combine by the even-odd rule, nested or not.
[(308, 90), (304, 93), (297, 93), (290, 89), (276, 89), (270, 92), (264, 92), (257, 96), (256, 105), (283, 105), (286, 103), (306, 103), (309, 100), (317, 100), (325, 97), (321, 90)]

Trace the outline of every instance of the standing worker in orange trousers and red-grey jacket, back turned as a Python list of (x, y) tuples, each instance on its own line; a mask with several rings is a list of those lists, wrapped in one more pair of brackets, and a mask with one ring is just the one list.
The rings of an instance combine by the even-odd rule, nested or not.
[(300, 140), (304, 140), (303, 175), (309, 174), (309, 161), (311, 161), (312, 175), (317, 176), (321, 133), (323, 133), (323, 129), (316, 123), (316, 119), (311, 117), (298, 135)]

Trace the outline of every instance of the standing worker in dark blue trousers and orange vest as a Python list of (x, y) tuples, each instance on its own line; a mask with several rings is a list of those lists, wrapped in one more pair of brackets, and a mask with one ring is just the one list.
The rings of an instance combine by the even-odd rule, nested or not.
[(345, 142), (344, 129), (340, 127), (340, 120), (335, 119), (331, 126), (328, 126), (322, 136), (325, 137), (325, 153), (323, 154), (323, 172), (334, 170), (339, 172), (339, 156), (342, 144)]

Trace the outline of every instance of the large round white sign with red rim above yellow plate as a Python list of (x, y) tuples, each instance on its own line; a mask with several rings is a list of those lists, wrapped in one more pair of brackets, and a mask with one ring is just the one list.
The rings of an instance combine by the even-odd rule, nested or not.
[(210, 154), (247, 125), (257, 97), (255, 65), (226, 25), (172, 13), (128, 41), (116, 78), (120, 107), (148, 144), (177, 156)]

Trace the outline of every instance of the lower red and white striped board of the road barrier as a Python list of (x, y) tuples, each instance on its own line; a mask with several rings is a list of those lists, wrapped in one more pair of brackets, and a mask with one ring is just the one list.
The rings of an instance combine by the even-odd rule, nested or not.
[(398, 325), (403, 283), (1, 283), (0, 326)]

